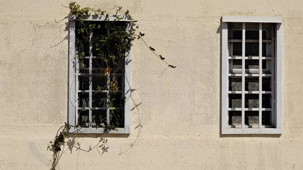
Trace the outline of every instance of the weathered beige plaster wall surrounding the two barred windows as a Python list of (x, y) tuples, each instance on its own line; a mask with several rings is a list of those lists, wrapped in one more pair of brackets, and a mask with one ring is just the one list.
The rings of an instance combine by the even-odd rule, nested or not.
[[(67, 121), (68, 90), (68, 20), (55, 19), (69, 2), (0, 2), (0, 169), (51, 168), (47, 146)], [(131, 111), (131, 134), (107, 143), (71, 136), (59, 169), (303, 169), (302, 1), (78, 3), (129, 9), (146, 42), (177, 68), (159, 78), (166, 65), (135, 41), (131, 108), (141, 104)], [(283, 18), (281, 136), (220, 135), (223, 15)]]

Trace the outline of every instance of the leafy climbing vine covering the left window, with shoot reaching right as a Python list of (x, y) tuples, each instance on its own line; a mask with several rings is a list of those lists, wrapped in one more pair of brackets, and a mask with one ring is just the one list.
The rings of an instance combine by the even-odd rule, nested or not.
[[(125, 100), (125, 98), (117, 101), (118, 99), (115, 97), (109, 96), (115, 96), (115, 94), (121, 90), (121, 80), (119, 81), (116, 75), (121, 72), (119, 66), (121, 66), (121, 64), (124, 64), (125, 58), (127, 56), (126, 51), (131, 48), (132, 42), (136, 39), (141, 39), (146, 47), (167, 65), (167, 68), (176, 68), (176, 66), (173, 66), (166, 62), (165, 58), (162, 55), (156, 53), (155, 48), (147, 45), (143, 39), (143, 36), (145, 34), (142, 32), (137, 33), (139, 26), (136, 25), (137, 21), (131, 17), (128, 10), (122, 12), (122, 7), (116, 6), (114, 8), (116, 12), (109, 13), (100, 9), (96, 10), (88, 7), (81, 8), (81, 6), (75, 2), (70, 3), (69, 7), (66, 8), (69, 8), (70, 10), (68, 18), (70, 20), (73, 19), (76, 22), (75, 47), (76, 56), (77, 60), (79, 61), (78, 64), (81, 67), (81, 71), (88, 75), (91, 73), (97, 73), (100, 75), (100, 77), (102, 77), (101, 79), (104, 81), (103, 83), (101, 82), (96, 86), (96, 89), (94, 90), (97, 92), (94, 92), (92, 95), (103, 91), (109, 92), (109, 95), (107, 96), (107, 100), (105, 102), (107, 102), (110, 107), (110, 121), (107, 122), (106, 119), (100, 120), (102, 125), (95, 125), (94, 127), (104, 128), (104, 133), (108, 133), (112, 130), (117, 131), (117, 128), (124, 126), (124, 122), (121, 119), (121, 114), (119, 114), (119, 112), (117, 113), (115, 109), (112, 108), (117, 106), (122, 107), (123, 100)], [(103, 24), (100, 24), (100, 22), (86, 21), (85, 17), (90, 15), (104, 18)], [(114, 18), (114, 21), (110, 20), (110, 18)], [(122, 22), (125, 19), (130, 21), (128, 28), (125, 25), (125, 22)], [(87, 43), (93, 44), (93, 46), (88, 45), (92, 46), (92, 49), (87, 49)], [(90, 68), (89, 64), (83, 61), (92, 54), (94, 55), (92, 58), (94, 66)], [(79, 101), (82, 108), (85, 108), (87, 106), (86, 103), (88, 99), (89, 97), (83, 101)], [(80, 113), (78, 112), (78, 114)], [(54, 141), (51, 141), (50, 148), (54, 152), (54, 161), (52, 165), (53, 170), (56, 169), (56, 165), (59, 161), (59, 153), (61, 151), (60, 146), (65, 143), (67, 130), (71, 127), (75, 129), (88, 127), (88, 119), (79, 118), (76, 126), (71, 126), (65, 123), (65, 125), (58, 130)]]

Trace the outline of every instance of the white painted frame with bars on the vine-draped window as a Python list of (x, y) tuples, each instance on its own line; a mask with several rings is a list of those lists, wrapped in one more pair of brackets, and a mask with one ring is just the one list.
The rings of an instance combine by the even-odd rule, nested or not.
[[(110, 16), (107, 21), (116, 21), (116, 22), (125, 22), (127, 31), (131, 27), (130, 20), (127, 18), (127, 16), (120, 16), (123, 19), (118, 21), (115, 17)], [(83, 16), (82, 18), (85, 19), (85, 21), (98, 21), (100, 24), (104, 22), (105, 16)], [(92, 90), (92, 75), (89, 74), (89, 90), (79, 90), (78, 87), (78, 76), (81, 75), (87, 75), (86, 73), (79, 73), (79, 64), (78, 59), (76, 57), (76, 48), (75, 48), (75, 41), (76, 41), (76, 20), (75, 16), (70, 17), (69, 21), (69, 95), (68, 95), (68, 123), (71, 126), (77, 125), (78, 120), (78, 114), (77, 110), (80, 108), (78, 107), (78, 92), (87, 92), (89, 93), (89, 97), (91, 98), (92, 94), (97, 92), (96, 90)], [(90, 40), (89, 40), (89, 56), (86, 57), (86, 59), (89, 59), (89, 69), (92, 70), (92, 32), (90, 32)], [(124, 82), (124, 87), (122, 87), (121, 91), (123, 94), (124, 100), (124, 128), (117, 128), (118, 131), (110, 131), (110, 134), (130, 134), (130, 61), (131, 61), (131, 55), (130, 50), (127, 49), (126, 51), (126, 57), (124, 60), (124, 71), (122, 71), (122, 74), (116, 74), (121, 75), (122, 80)], [(97, 75), (97, 74), (95, 74)], [(106, 91), (104, 91), (106, 92)], [(92, 106), (92, 100), (89, 100), (89, 107), (85, 107), (84, 109), (89, 110), (89, 128), (70, 128), (69, 133), (83, 133), (83, 134), (102, 134), (104, 133), (104, 128), (92, 128), (91, 127), (91, 121), (92, 121), (92, 110), (90, 109)], [(94, 109), (107, 109), (107, 121), (109, 121), (109, 108), (103, 108), (103, 107), (94, 107)], [(117, 109), (122, 109), (121, 107), (117, 107)]]

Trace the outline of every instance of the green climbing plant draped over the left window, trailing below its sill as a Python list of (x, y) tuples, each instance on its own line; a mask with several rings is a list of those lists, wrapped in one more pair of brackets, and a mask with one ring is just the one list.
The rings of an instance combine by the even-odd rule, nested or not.
[[(137, 29), (139, 26), (136, 25), (136, 20), (134, 20), (130, 12), (127, 10), (126, 12), (122, 12), (122, 7), (116, 6), (114, 9), (116, 9), (115, 14), (109, 13), (100, 9), (93, 9), (93, 8), (81, 8), (80, 5), (76, 4), (75, 2), (70, 3), (69, 7), (70, 13), (68, 15), (68, 18), (71, 16), (76, 17), (77, 21), (77, 27), (76, 27), (76, 50), (77, 58), (82, 59), (85, 56), (85, 52), (81, 49), (84, 48), (83, 40), (89, 39), (89, 34), (92, 29), (100, 29), (103, 27), (103, 25), (99, 25), (97, 23), (93, 22), (84, 22), (85, 20), (82, 18), (82, 16), (85, 15), (96, 15), (96, 16), (103, 16), (105, 17), (105, 21), (109, 19), (109, 17), (115, 17), (116, 21), (120, 21), (124, 19), (124, 17), (127, 17), (130, 20), (130, 28), (128, 31), (126, 30), (125, 26), (114, 24), (113, 22), (106, 22), (105, 24), (105, 30), (107, 30), (106, 33), (95, 35), (93, 37), (93, 43), (95, 44), (95, 50), (97, 51), (97, 56), (94, 62), (99, 67), (99, 73), (102, 74), (105, 80), (106, 85), (100, 85), (97, 86), (98, 91), (102, 90), (109, 90), (111, 93), (116, 93), (119, 90), (119, 82), (116, 77), (116, 73), (119, 71), (117, 68), (119, 66), (120, 62), (125, 59), (125, 50), (130, 49), (132, 46), (132, 42), (136, 39), (141, 39), (146, 47), (153, 52), (162, 62), (167, 64), (168, 68), (176, 68), (176, 66), (173, 66), (166, 62), (165, 58), (156, 53), (155, 48), (147, 45), (147, 43), (142, 38), (144, 36), (144, 33), (139, 32), (137, 33)], [(110, 62), (109, 62), (110, 61)], [(87, 72), (92, 72), (92, 70), (89, 69), (85, 64), (79, 63), (83, 69), (87, 70)], [(112, 77), (109, 77), (109, 73), (111, 73)], [(87, 99), (86, 99), (87, 100)], [(110, 97), (108, 98), (109, 106), (113, 107), (113, 102), (115, 98)], [(83, 102), (83, 103), (86, 103)], [(111, 117), (110, 122), (104, 121), (104, 132), (108, 133), (110, 131), (115, 131), (121, 124), (121, 120), (119, 118), (119, 115), (115, 114), (114, 109), (111, 109)], [(54, 141), (51, 141), (51, 150), (54, 152), (53, 155), (53, 165), (52, 169), (56, 169), (56, 165), (59, 160), (59, 153), (61, 151), (61, 145), (65, 143), (65, 136), (67, 135), (67, 130), (70, 127), (74, 128), (81, 128), (85, 126), (85, 122), (79, 121), (78, 124), (74, 126), (70, 126), (69, 124), (65, 123), (64, 126), (62, 126), (54, 139)], [(87, 136), (87, 135), (86, 135)]]

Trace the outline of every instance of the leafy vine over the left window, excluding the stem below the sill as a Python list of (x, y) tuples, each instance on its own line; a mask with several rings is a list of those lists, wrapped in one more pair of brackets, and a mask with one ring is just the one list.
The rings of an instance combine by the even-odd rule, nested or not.
[[(121, 20), (124, 20), (127, 18), (131, 22), (131, 25), (130, 25), (130, 28), (128, 31), (126, 31), (125, 27), (116, 26), (115, 24), (113, 24), (111, 22), (107, 22), (105, 25), (105, 28), (108, 30), (107, 34), (102, 35), (102, 36), (93, 36), (92, 37), (92, 41), (96, 46), (95, 50), (98, 52), (97, 58), (101, 59), (102, 63), (98, 64), (98, 62), (96, 61), (95, 58), (93, 58), (93, 60), (98, 65), (99, 70), (102, 72), (103, 76), (106, 78), (106, 84), (107, 84), (104, 87), (97, 86), (98, 91), (102, 91), (103, 89), (108, 89), (113, 93), (116, 93), (118, 91), (119, 86), (118, 86), (118, 81), (117, 81), (117, 77), (116, 77), (116, 73), (118, 72), (118, 70), (111, 68), (108, 65), (108, 63), (110, 60), (113, 64), (113, 66), (117, 67), (119, 65), (120, 61), (125, 59), (125, 49), (126, 48), (130, 49), (132, 46), (132, 41), (135, 39), (141, 39), (144, 42), (144, 44), (148, 47), (148, 49), (151, 52), (153, 52), (161, 61), (163, 61), (165, 64), (167, 64), (168, 67), (176, 68), (176, 66), (173, 66), (173, 65), (169, 64), (168, 62), (166, 62), (165, 58), (162, 55), (157, 54), (155, 52), (156, 51), (155, 48), (147, 45), (145, 40), (142, 38), (145, 35), (144, 33), (140, 32), (139, 34), (136, 34), (136, 31), (139, 28), (139, 26), (136, 25), (137, 21), (131, 17), (128, 10), (123, 13), (121, 11), (122, 7), (115, 6), (114, 9), (116, 9), (116, 14), (113, 14), (113, 13), (109, 13), (109, 12), (106, 12), (106, 11), (103, 11), (100, 9), (95, 10), (93, 8), (88, 8), (88, 7), (81, 8), (80, 5), (76, 4), (75, 2), (70, 3), (69, 9), (70, 9), (69, 16), (70, 17), (72, 15), (75, 16), (76, 18), (74, 18), (74, 19), (78, 22), (78, 27), (76, 26), (77, 27), (76, 33), (78, 34), (78, 37), (82, 37), (86, 41), (89, 41), (91, 30), (100, 29), (100, 27), (101, 27), (99, 24), (97, 25), (97, 24), (90, 23), (90, 22), (84, 22), (85, 16), (91, 15), (91, 13), (93, 13), (94, 15), (97, 15), (97, 16), (104, 17), (105, 21), (109, 21), (109, 17), (110, 17), (109, 15), (111, 15), (111, 16), (115, 17), (114, 21), (121, 21)], [(84, 46), (83, 39), (76, 38), (77, 51), (80, 51), (80, 49), (83, 48), (83, 46)], [(116, 51), (115, 50), (113, 51), (113, 49), (117, 49), (117, 51), (118, 51), (118, 57), (120, 58), (118, 61), (115, 58)], [(85, 55), (85, 52), (78, 52), (77, 58), (81, 59), (81, 58), (85, 57), (84, 55)], [(84, 69), (86, 69), (89, 72), (89, 74), (92, 73), (93, 70), (90, 70), (89, 68), (87, 68), (83, 63), (79, 62), (79, 64)], [(112, 79), (108, 76), (110, 72), (111, 72), (111, 75), (113, 75)], [(110, 98), (110, 101), (108, 103), (111, 108), (114, 107), (113, 106), (114, 100), (115, 100), (115, 98)], [(87, 100), (85, 100), (85, 102), (86, 101)], [(86, 104), (84, 107), (86, 107)], [(115, 115), (115, 112), (113, 110), (111, 110), (110, 116), (111, 116), (110, 120), (112, 120), (114, 118), (117, 121), (116, 126), (118, 127), (119, 119), (117, 117), (119, 117), (119, 116)], [(87, 120), (85, 120), (85, 121), (87, 121)], [(78, 123), (79, 123), (79, 121), (78, 121)], [(82, 120), (82, 123), (79, 124), (78, 126), (85, 127), (84, 124), (86, 124), (86, 123), (84, 123)], [(107, 125), (107, 126), (111, 126), (110, 129), (116, 130), (114, 128), (115, 127), (114, 125)]]

